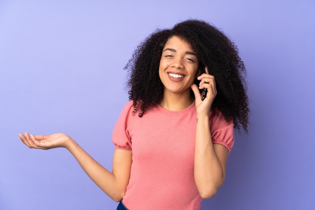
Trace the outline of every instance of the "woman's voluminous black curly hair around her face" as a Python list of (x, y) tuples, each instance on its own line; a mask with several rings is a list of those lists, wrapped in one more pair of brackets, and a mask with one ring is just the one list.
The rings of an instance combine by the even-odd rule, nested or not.
[[(215, 77), (217, 95), (211, 109), (221, 113), (226, 121), (233, 120), (234, 128), (242, 125), (248, 133), (249, 102), (246, 94), (246, 68), (237, 46), (214, 26), (200, 20), (187, 20), (172, 29), (156, 30), (134, 51), (124, 69), (128, 69), (129, 100), (134, 112), (141, 117), (147, 108), (163, 98), (164, 86), (159, 77), (159, 64), (166, 42), (173, 36), (187, 41), (197, 54), (199, 68)], [(199, 81), (195, 81), (198, 86)]]

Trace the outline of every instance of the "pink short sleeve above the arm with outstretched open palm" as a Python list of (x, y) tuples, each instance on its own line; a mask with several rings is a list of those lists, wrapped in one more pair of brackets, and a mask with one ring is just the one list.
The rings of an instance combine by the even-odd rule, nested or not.
[(115, 124), (112, 142), (115, 146), (115, 149), (125, 149), (131, 150), (131, 138), (128, 132), (128, 124), (130, 116), (132, 115), (133, 102), (129, 101), (124, 108), (122, 109), (120, 116)]

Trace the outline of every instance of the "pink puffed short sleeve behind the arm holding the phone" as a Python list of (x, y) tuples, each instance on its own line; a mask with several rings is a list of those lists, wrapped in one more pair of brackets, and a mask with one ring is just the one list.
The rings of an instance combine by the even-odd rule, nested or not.
[(233, 121), (226, 122), (221, 114), (210, 113), (209, 124), (213, 144), (223, 145), (230, 153), (234, 145)]

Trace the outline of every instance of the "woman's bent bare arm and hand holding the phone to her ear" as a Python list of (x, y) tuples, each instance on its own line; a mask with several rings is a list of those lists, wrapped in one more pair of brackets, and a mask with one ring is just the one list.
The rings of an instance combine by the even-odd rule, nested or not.
[(209, 128), (209, 111), (217, 93), (215, 79), (209, 74), (202, 74), (197, 79), (200, 80), (199, 89), (207, 89), (207, 96), (202, 101), (198, 87), (191, 86), (197, 111), (194, 176), (200, 196), (209, 198), (224, 182), (228, 151), (224, 146), (212, 143)]

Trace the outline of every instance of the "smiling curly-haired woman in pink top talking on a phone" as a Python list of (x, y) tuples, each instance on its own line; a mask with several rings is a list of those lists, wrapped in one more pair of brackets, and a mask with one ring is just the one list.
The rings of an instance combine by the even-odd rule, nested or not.
[[(188, 20), (151, 34), (129, 69), (112, 172), (68, 135), (19, 134), (29, 148), (66, 148), (117, 209), (199, 209), (223, 184), (233, 127), (247, 132), (245, 66), (215, 27)], [(202, 97), (204, 95), (205, 97)]]

